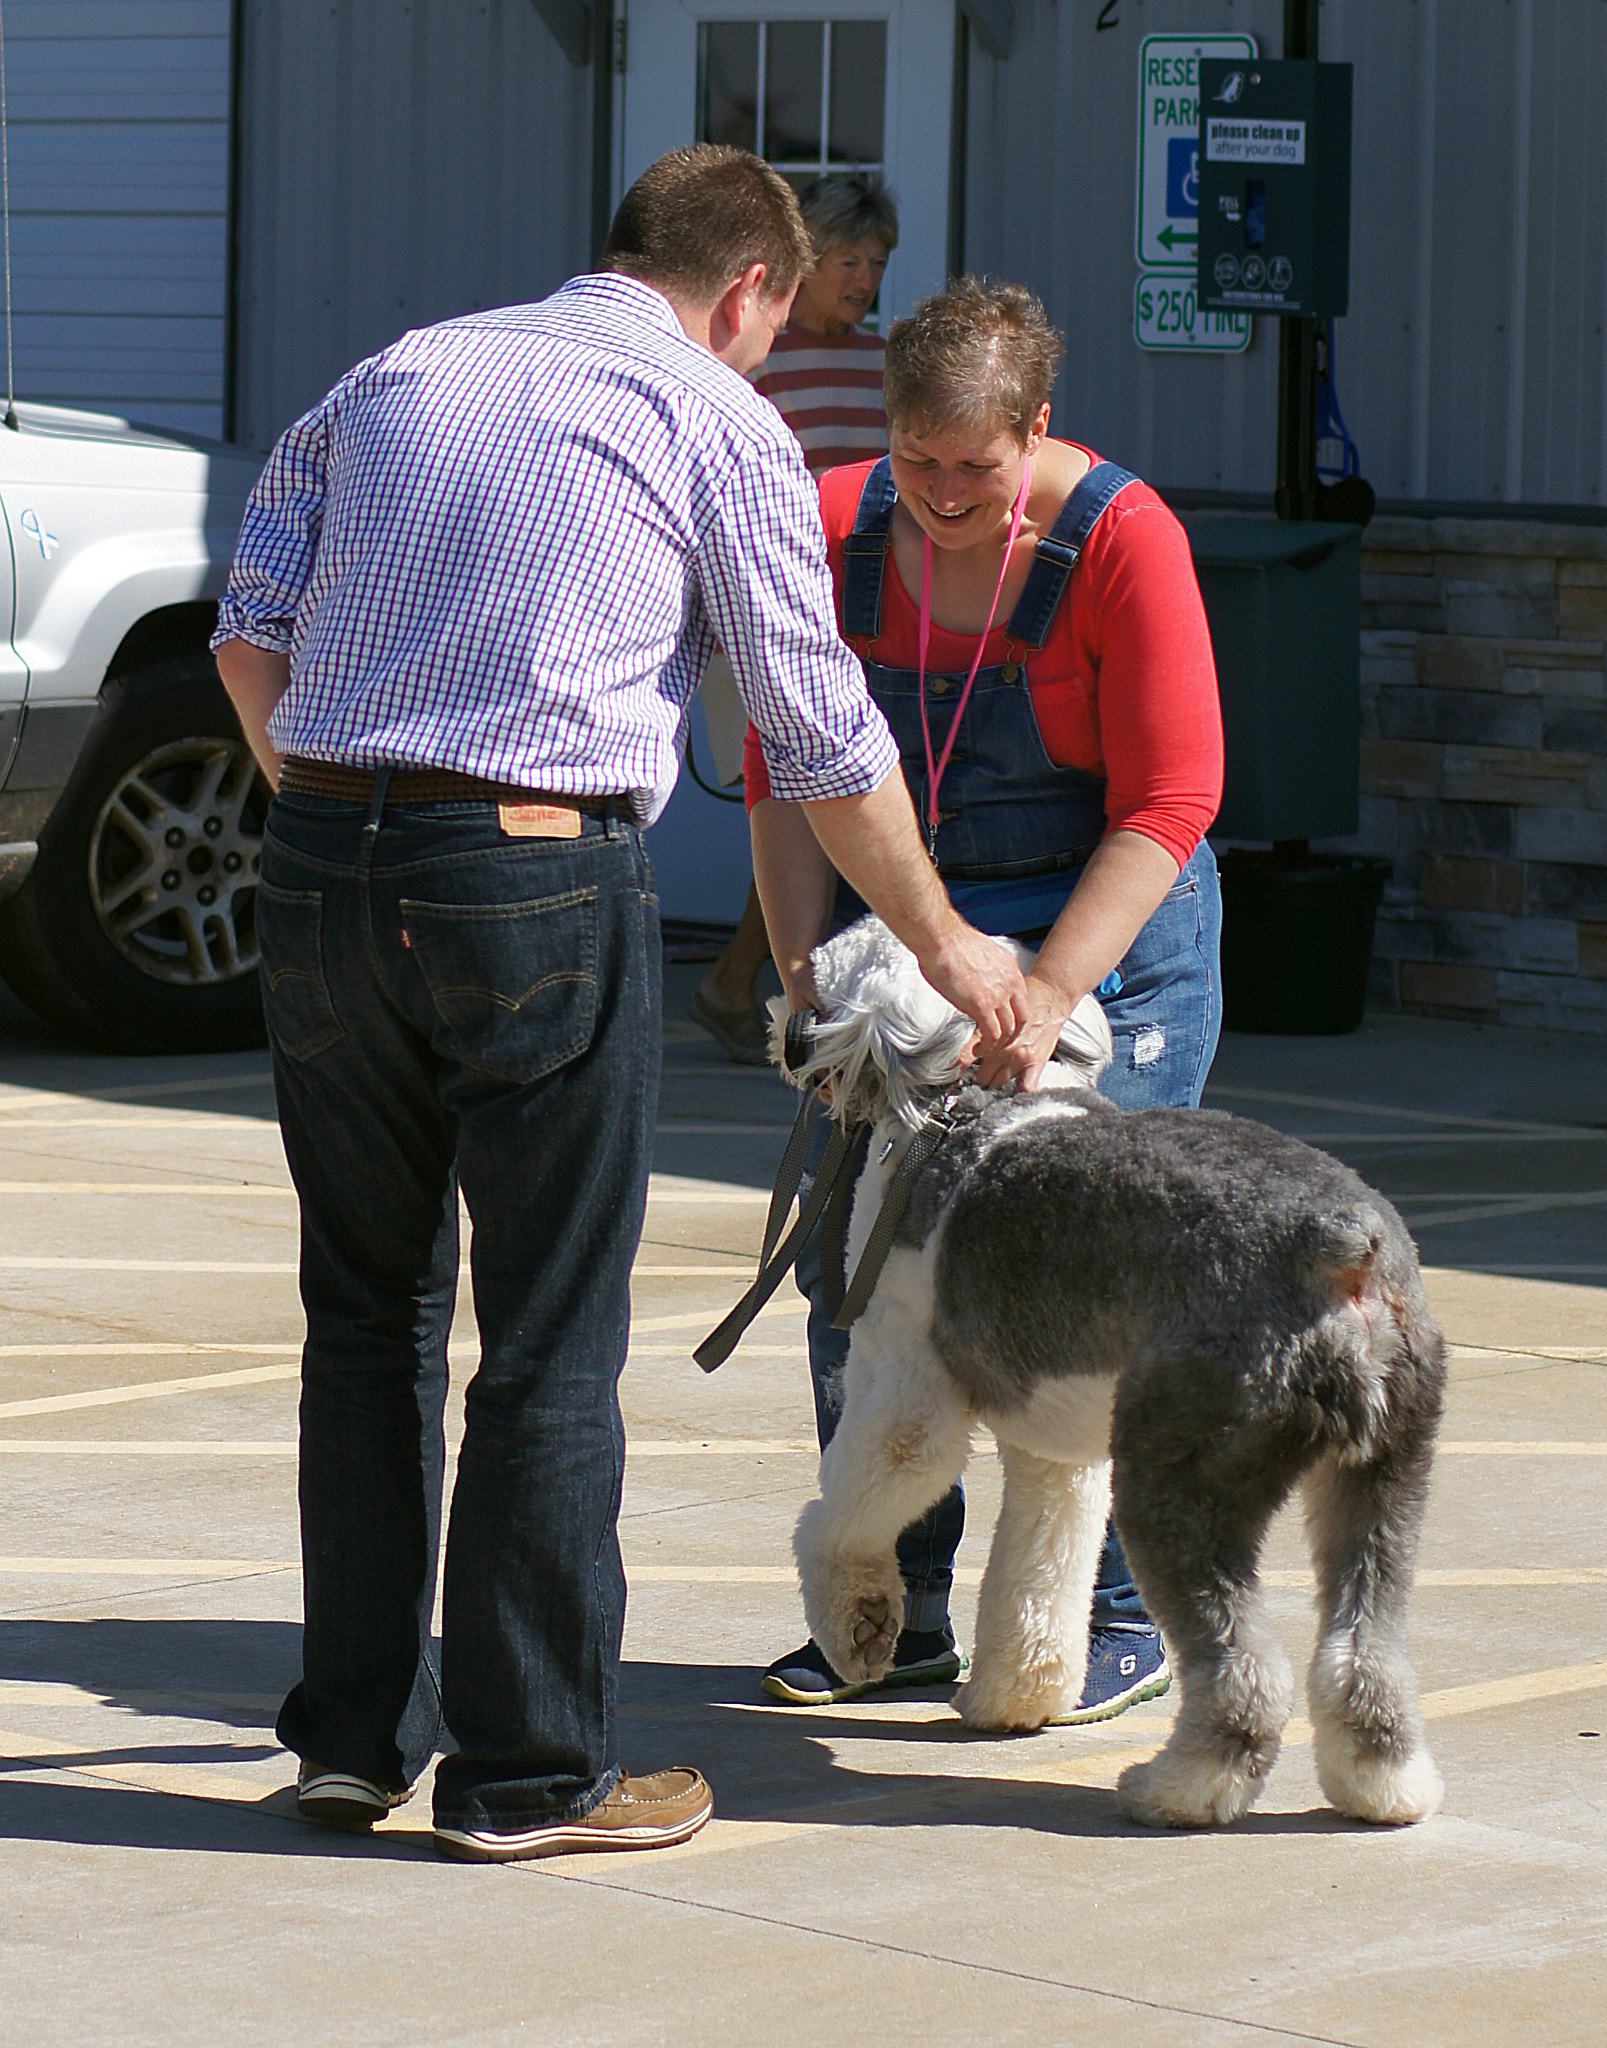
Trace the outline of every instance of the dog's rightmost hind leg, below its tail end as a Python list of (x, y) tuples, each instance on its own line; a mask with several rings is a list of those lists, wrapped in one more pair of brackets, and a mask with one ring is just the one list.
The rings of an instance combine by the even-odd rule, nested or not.
[(1425, 1821), (1445, 1796), (1402, 1640), (1429, 1434), (1404, 1456), (1392, 1446), (1388, 1462), (1329, 1456), (1304, 1483), (1318, 1612), (1306, 1675), (1316, 1778), (1357, 1821)]

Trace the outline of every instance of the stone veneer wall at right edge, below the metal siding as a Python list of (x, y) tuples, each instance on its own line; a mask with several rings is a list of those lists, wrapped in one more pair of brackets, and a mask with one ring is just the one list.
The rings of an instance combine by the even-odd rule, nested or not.
[(1607, 528), (1380, 516), (1361, 541), (1376, 1008), (1607, 1032)]

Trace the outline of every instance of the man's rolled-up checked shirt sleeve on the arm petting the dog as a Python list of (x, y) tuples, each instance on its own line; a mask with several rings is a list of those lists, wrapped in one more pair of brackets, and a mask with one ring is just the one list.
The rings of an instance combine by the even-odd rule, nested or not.
[(739, 463), (698, 551), (708, 618), (788, 801), (862, 797), (899, 766), (837, 633), (815, 485), (790, 434)]

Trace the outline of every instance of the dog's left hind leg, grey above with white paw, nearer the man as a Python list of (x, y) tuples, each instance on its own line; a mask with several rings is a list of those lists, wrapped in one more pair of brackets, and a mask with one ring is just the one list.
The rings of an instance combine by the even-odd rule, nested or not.
[(1198, 1458), (1132, 1456), (1120, 1411), (1118, 1395), (1116, 1526), (1183, 1698), (1165, 1749), (1124, 1769), (1116, 1798), (1146, 1827), (1224, 1825), (1261, 1792), (1294, 1704), (1255, 1561), (1296, 1473), (1247, 1438), (1206, 1487)]

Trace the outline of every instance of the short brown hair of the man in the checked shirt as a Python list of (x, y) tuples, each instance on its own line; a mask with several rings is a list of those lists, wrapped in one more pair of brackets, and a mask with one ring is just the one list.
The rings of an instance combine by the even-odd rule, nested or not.
[(786, 178), (762, 156), (698, 141), (669, 150), (620, 201), (604, 270), (712, 305), (743, 270), (766, 268), (764, 297), (792, 291), (815, 250)]

